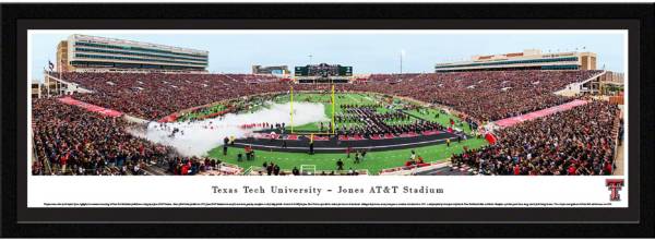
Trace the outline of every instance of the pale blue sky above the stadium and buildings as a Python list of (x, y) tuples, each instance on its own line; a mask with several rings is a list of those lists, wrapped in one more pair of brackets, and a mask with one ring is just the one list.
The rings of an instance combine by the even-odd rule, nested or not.
[(250, 73), (251, 65), (306, 65), (326, 62), (353, 65), (354, 73), (397, 73), (404, 51), (403, 72), (432, 72), (434, 63), (469, 60), (474, 55), (519, 52), (523, 49), (579, 50), (598, 55), (597, 68), (623, 72), (624, 38), (621, 32), (148, 32), (148, 31), (48, 31), (31, 35), (32, 79), (43, 79), (48, 60), (56, 63), (60, 40), (71, 34), (114, 37), (210, 51), (212, 72)]

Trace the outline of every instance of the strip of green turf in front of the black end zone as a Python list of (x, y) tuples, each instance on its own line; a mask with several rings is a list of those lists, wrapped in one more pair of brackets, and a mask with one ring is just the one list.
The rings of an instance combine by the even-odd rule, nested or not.
[(412, 155), (412, 149), (416, 150), (417, 155), (421, 156), (426, 162), (431, 162), (443, 161), (453, 153), (462, 153), (464, 146), (467, 146), (468, 148), (479, 148), (486, 144), (487, 142), (484, 138), (469, 138), (462, 141), (462, 143), (453, 142), (451, 143), (450, 147), (446, 147), (445, 144), (441, 144), (397, 150), (370, 152), (367, 153), (366, 159), (360, 164), (354, 164), (354, 154), (350, 155), (350, 159), (347, 159), (345, 153), (308, 155), (306, 153), (266, 150), (255, 150), (254, 160), (237, 161), (237, 154), (245, 153), (242, 148), (230, 147), (227, 152), (228, 155), (223, 156), (223, 147), (221, 146), (210, 150), (209, 156), (229, 164), (238, 165), (243, 169), (248, 169), (251, 166), (261, 167), (264, 161), (273, 161), (279, 165), (282, 169), (293, 169), (294, 167), (300, 168), (300, 165), (315, 165), (317, 170), (334, 170), (336, 169), (336, 160), (342, 158), (344, 161), (344, 169), (346, 170), (349, 168), (368, 169), (370, 174), (378, 174), (382, 169), (401, 167), (405, 165), (405, 161), (407, 161)]

